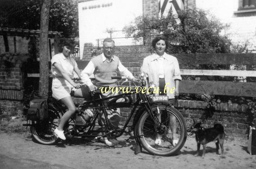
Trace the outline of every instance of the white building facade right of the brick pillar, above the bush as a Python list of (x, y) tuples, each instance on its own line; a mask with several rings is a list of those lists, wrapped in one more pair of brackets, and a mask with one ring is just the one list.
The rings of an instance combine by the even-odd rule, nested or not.
[(249, 44), (254, 51), (256, 44), (256, 0), (160, 0), (160, 14), (170, 10), (199, 8), (209, 11), (229, 27), (223, 32), (228, 34), (233, 44)]

